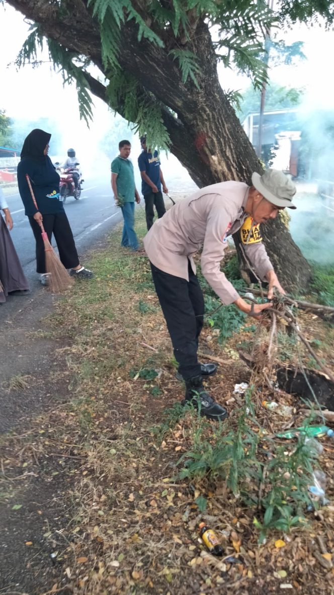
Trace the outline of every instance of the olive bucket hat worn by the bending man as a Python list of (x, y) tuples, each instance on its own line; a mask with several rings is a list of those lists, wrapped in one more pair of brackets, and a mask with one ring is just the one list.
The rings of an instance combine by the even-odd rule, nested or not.
[(279, 170), (266, 170), (262, 176), (256, 171), (252, 174), (254, 188), (275, 206), (296, 209), (292, 203), (292, 197), (296, 193), (295, 184), (288, 176)]

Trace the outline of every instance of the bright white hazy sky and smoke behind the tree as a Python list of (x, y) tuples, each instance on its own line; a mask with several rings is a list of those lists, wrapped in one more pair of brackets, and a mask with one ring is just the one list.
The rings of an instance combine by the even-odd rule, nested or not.
[[(15, 61), (28, 29), (29, 25), (19, 12), (8, 5), (0, 6), (0, 108), (15, 121), (17, 137), (22, 136), (23, 130), (28, 133), (39, 127), (42, 118), (43, 129), (52, 134), (49, 155), (61, 162), (67, 156), (67, 149), (74, 148), (86, 182), (99, 179), (108, 184), (110, 164), (118, 154), (118, 142), (128, 139), (132, 143), (130, 158), (140, 190), (139, 138), (120, 116), (115, 117), (104, 102), (93, 97), (93, 121), (88, 128), (79, 118), (75, 87), (63, 87), (61, 74), (55, 73), (50, 64), (44, 63), (38, 68), (27, 65), (18, 72), (13, 64), (7, 68), (8, 63)], [(288, 43), (304, 41), (303, 52), (307, 60), (295, 67), (275, 67), (270, 77), (282, 86), (305, 87), (301, 115), (314, 152), (311, 169), (298, 183), (298, 209), (291, 212), (291, 233), (307, 258), (333, 264), (334, 236), (330, 227), (334, 223), (334, 201), (320, 198), (317, 180), (334, 181), (333, 135), (327, 134), (326, 118), (323, 117), (334, 110), (332, 75), (327, 63), (332, 55), (334, 33), (325, 32), (319, 26), (299, 26), (284, 37)], [(43, 59), (47, 58), (44, 56)], [(249, 85), (248, 77), (236, 76), (232, 70), (221, 66), (219, 75), (224, 89), (242, 90)], [(21, 149), (21, 146), (14, 148)], [(195, 189), (188, 172), (173, 155), (167, 158), (161, 154), (161, 168), (171, 194), (189, 193)]]

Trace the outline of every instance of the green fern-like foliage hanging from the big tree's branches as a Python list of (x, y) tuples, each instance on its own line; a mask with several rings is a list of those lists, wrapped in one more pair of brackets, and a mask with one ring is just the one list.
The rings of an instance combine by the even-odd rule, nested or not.
[[(21, 6), (24, 2), (8, 2), (24, 11)], [(68, 0), (44, 4), (48, 10), (52, 4), (52, 16), (58, 12), (60, 17), (73, 17), (73, 8)], [(135, 29), (139, 42), (148, 40), (157, 50), (166, 51), (170, 60), (180, 69), (182, 82), (199, 88), (201, 56), (194, 35), (201, 23), (208, 24), (217, 61), (223, 62), (225, 67), (236, 67), (248, 74), (255, 89), (260, 89), (267, 80), (267, 66), (263, 61), (266, 30), (289, 22), (315, 21), (319, 15), (326, 18), (327, 24), (331, 24), (334, 18), (332, 2), (329, 0), (280, 0), (276, 11), (270, 10), (265, 0), (88, 0), (87, 4), (93, 25), (99, 31), (101, 67), (107, 80), (110, 107), (121, 112), (129, 122), (135, 123), (140, 133), (147, 131), (152, 145), (163, 148), (167, 148), (170, 143), (163, 111), (170, 111), (170, 107), (157, 101), (149, 86), (143, 88), (133, 75), (121, 68), (120, 53), (125, 30)], [(40, 24), (32, 24), (32, 31), (18, 56), (19, 66), (27, 61), (38, 62), (38, 50), (45, 43), (44, 30)], [(57, 40), (55, 37), (46, 40), (49, 58), (55, 68), (63, 72), (64, 82), (76, 84), (80, 115), (89, 120), (92, 115), (91, 99), (85, 70), (93, 60), (83, 53), (70, 51), (58, 40), (59, 36)], [(297, 51), (296, 48), (291, 50), (291, 55), (294, 51)], [(146, 108), (147, 104), (149, 109)]]

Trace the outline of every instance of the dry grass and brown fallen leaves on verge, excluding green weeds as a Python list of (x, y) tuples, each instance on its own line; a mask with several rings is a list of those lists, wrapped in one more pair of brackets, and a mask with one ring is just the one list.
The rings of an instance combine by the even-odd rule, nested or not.
[[(143, 234), (143, 213), (138, 227)], [(332, 509), (311, 513), (310, 530), (294, 530), (282, 550), (274, 547), (284, 537), (277, 532), (260, 547), (252, 526), (254, 509), (233, 496), (226, 482), (177, 478), (176, 463), (191, 451), (196, 433), (214, 444), (219, 432), (236, 427), (238, 414), (220, 430), (213, 424), (204, 427), (191, 412), (180, 417), (177, 408), (164, 421), (164, 410), (182, 399), (183, 387), (174, 377), (148, 261), (125, 253), (116, 233), (92, 256), (90, 266), (95, 280), (77, 283), (61, 298), (52, 321), (57, 336), (71, 337), (71, 345), (57, 355), (66, 363), (73, 399), (37, 419), (26, 436), (11, 437), (4, 465), (13, 479), (22, 465), (24, 473), (33, 473), (43, 461), (52, 461), (52, 472), (70, 481), (68, 521), (61, 536), (48, 538), (57, 544), (57, 559), (73, 593), (255, 595), (281, 593), (285, 583), (303, 595), (330, 593), (332, 568), (321, 566), (313, 550), (321, 533), (327, 553), (334, 553)], [(205, 329), (202, 350), (235, 358), (235, 340), (224, 350), (216, 339), (205, 342), (208, 334)], [(248, 336), (242, 331), (237, 340)], [(143, 369), (159, 373), (145, 380), (138, 374)], [(243, 399), (232, 396), (234, 384), (248, 381), (249, 375), (237, 359), (220, 366), (210, 380), (213, 396), (236, 410)], [(273, 433), (279, 422), (261, 408), (262, 398), (254, 393), (257, 423)], [(296, 414), (294, 422), (301, 421)], [(326, 451), (330, 471), (330, 444)], [(207, 498), (204, 513), (195, 503), (199, 496)], [(226, 555), (238, 558), (236, 563), (205, 553), (196, 531), (202, 518), (218, 532)], [(282, 570), (286, 578), (277, 574)]]

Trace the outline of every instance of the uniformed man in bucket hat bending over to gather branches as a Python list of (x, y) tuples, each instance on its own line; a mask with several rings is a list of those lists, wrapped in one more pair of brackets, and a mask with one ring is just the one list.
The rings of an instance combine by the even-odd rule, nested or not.
[(272, 304), (249, 305), (220, 270), (227, 237), (248, 220), (249, 231), (244, 226), (241, 239), (249, 261), (259, 277), (268, 281), (269, 298), (273, 296), (274, 287), (285, 293), (261, 242), (258, 226), (274, 219), (280, 209), (295, 209), (291, 201), (296, 188), (277, 170), (267, 170), (263, 176), (253, 173), (252, 184), (249, 187), (243, 182), (227, 181), (197, 190), (158, 219), (143, 240), (179, 373), (186, 383), (182, 403), (193, 403), (210, 419), (224, 419), (228, 414), (202, 384), (202, 378), (214, 374), (217, 367), (200, 364), (197, 359), (204, 298), (193, 255), (203, 246), (202, 273), (223, 304), (234, 303), (242, 312), (258, 317)]

